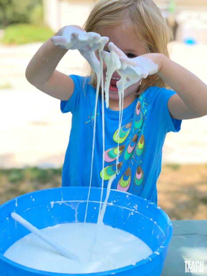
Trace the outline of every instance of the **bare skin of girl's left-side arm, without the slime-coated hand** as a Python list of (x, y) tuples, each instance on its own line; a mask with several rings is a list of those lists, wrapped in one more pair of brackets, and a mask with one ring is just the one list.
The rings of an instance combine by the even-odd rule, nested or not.
[[(59, 35), (60, 29), (55, 35)], [(55, 46), (48, 39), (35, 53), (26, 68), (26, 79), (39, 90), (60, 100), (68, 100), (74, 83), (70, 77), (55, 68), (68, 49)]]

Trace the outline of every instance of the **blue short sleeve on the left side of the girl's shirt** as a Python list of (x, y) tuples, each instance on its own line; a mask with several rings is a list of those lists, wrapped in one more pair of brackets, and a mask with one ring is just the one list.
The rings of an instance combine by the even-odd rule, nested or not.
[(60, 102), (60, 110), (62, 113), (76, 112), (87, 101), (86, 94), (84, 93), (84, 85), (86, 77), (78, 75), (69, 75), (74, 82), (74, 91), (68, 101)]

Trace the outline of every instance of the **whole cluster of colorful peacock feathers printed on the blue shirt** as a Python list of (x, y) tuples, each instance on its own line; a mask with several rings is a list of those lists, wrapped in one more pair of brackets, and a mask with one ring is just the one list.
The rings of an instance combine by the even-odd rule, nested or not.
[(100, 172), (100, 177), (103, 177), (106, 181), (116, 175), (116, 158), (119, 151), (118, 157), (122, 162), (117, 166), (116, 189), (120, 191), (131, 192), (131, 189), (133, 189), (134, 192), (139, 193), (144, 187), (142, 160), (145, 153), (145, 119), (148, 106), (144, 97), (143, 93), (137, 100), (133, 118), (130, 122), (124, 124), (119, 133), (118, 129), (116, 131), (112, 130), (113, 141), (120, 144), (118, 149), (114, 147), (113, 142), (111, 147), (104, 152), (105, 162), (113, 163), (110, 165), (106, 163), (106, 167)]

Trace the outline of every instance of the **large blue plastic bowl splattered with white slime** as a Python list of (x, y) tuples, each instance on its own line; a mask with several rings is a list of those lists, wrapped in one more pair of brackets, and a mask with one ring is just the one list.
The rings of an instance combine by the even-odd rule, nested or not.
[[(154, 203), (139, 196), (118, 190), (111, 190), (110, 192), (108, 202), (113, 202), (113, 205), (107, 206), (104, 223), (123, 229), (139, 237), (150, 246), (153, 254), (137, 262), (135, 265), (98, 273), (66, 274), (32, 269), (3, 256), (3, 253), (9, 246), (30, 233), (19, 223), (16, 223), (15, 227), (15, 221), (10, 217), (11, 212), (17, 212), (39, 229), (77, 220), (83, 222), (88, 189), (88, 187), (45, 189), (24, 194), (2, 204), (0, 206), (0, 275), (98, 276), (116, 274), (118, 276), (159, 276), (173, 234), (172, 223), (167, 214), (160, 208), (157, 208), (157, 205)], [(89, 223), (97, 222), (100, 195), (100, 188), (91, 188), (86, 219)], [(104, 189), (103, 200), (105, 196), (106, 189)], [(72, 202), (72, 204), (68, 206), (67, 202), (67, 205), (62, 203), (62, 198), (64, 201)], [(57, 203), (53, 204), (53, 208), (51, 208), (50, 204), (52, 201), (57, 201)], [(80, 203), (78, 204), (78, 202)], [(50, 212), (48, 212), (48, 207)], [(94, 209), (94, 207), (96, 208)], [(129, 216), (130, 212), (133, 212), (133, 215)], [(155, 251), (159, 254), (154, 253)]]

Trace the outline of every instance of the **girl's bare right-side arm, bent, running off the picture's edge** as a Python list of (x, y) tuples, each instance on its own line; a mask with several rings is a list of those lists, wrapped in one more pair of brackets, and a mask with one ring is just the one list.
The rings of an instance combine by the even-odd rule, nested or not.
[(180, 120), (205, 116), (207, 114), (207, 85), (165, 55), (158, 55), (161, 57), (161, 65), (156, 74), (177, 93), (168, 100), (171, 116)]

